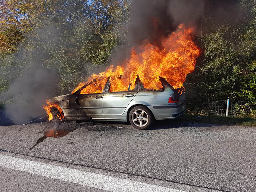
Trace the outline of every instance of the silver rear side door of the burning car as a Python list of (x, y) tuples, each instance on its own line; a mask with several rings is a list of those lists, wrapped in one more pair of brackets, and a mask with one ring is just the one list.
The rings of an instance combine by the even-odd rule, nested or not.
[(133, 100), (138, 91), (108, 92), (110, 86), (110, 84), (107, 85), (106, 92), (102, 98), (103, 115), (122, 115), (128, 104)]

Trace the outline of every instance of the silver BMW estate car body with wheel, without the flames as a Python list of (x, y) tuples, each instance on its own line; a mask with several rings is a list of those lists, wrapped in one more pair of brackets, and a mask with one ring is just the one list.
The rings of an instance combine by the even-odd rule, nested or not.
[(102, 93), (62, 95), (50, 99), (58, 103), (67, 120), (120, 121), (130, 122), (136, 129), (147, 129), (153, 120), (173, 119), (186, 109), (186, 96), (162, 80), (161, 90), (146, 90), (139, 78), (135, 88), (121, 92), (109, 92), (111, 82), (105, 84)]

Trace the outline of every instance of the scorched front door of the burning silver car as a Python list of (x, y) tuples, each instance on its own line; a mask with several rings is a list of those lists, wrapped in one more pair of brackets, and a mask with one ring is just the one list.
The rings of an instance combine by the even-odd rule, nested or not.
[(78, 119), (101, 116), (104, 93), (72, 95), (69, 101), (70, 113)]

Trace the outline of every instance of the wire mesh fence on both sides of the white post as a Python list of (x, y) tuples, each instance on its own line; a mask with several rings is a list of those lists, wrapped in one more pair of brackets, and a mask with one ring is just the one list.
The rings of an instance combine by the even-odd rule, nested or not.
[[(198, 100), (197, 112), (201, 115), (226, 116), (227, 100)], [(228, 116), (256, 117), (256, 105), (245, 101), (229, 101)]]

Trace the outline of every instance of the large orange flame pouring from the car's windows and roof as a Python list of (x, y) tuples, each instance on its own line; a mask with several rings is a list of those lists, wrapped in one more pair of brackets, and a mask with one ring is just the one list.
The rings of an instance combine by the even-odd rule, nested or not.
[(160, 76), (173, 88), (182, 88), (187, 74), (195, 69), (196, 58), (201, 52), (191, 33), (192, 28), (180, 24), (175, 32), (161, 39), (161, 49), (145, 40), (143, 45), (132, 48), (125, 64), (115, 68), (111, 65), (106, 71), (93, 74), (87, 79), (89, 83), (85, 88), (82, 89), (86, 83), (81, 82), (72, 94), (79, 89), (81, 94), (101, 93), (108, 78), (110, 92), (127, 91), (130, 82), (132, 90), (137, 76), (146, 89), (161, 89)]

